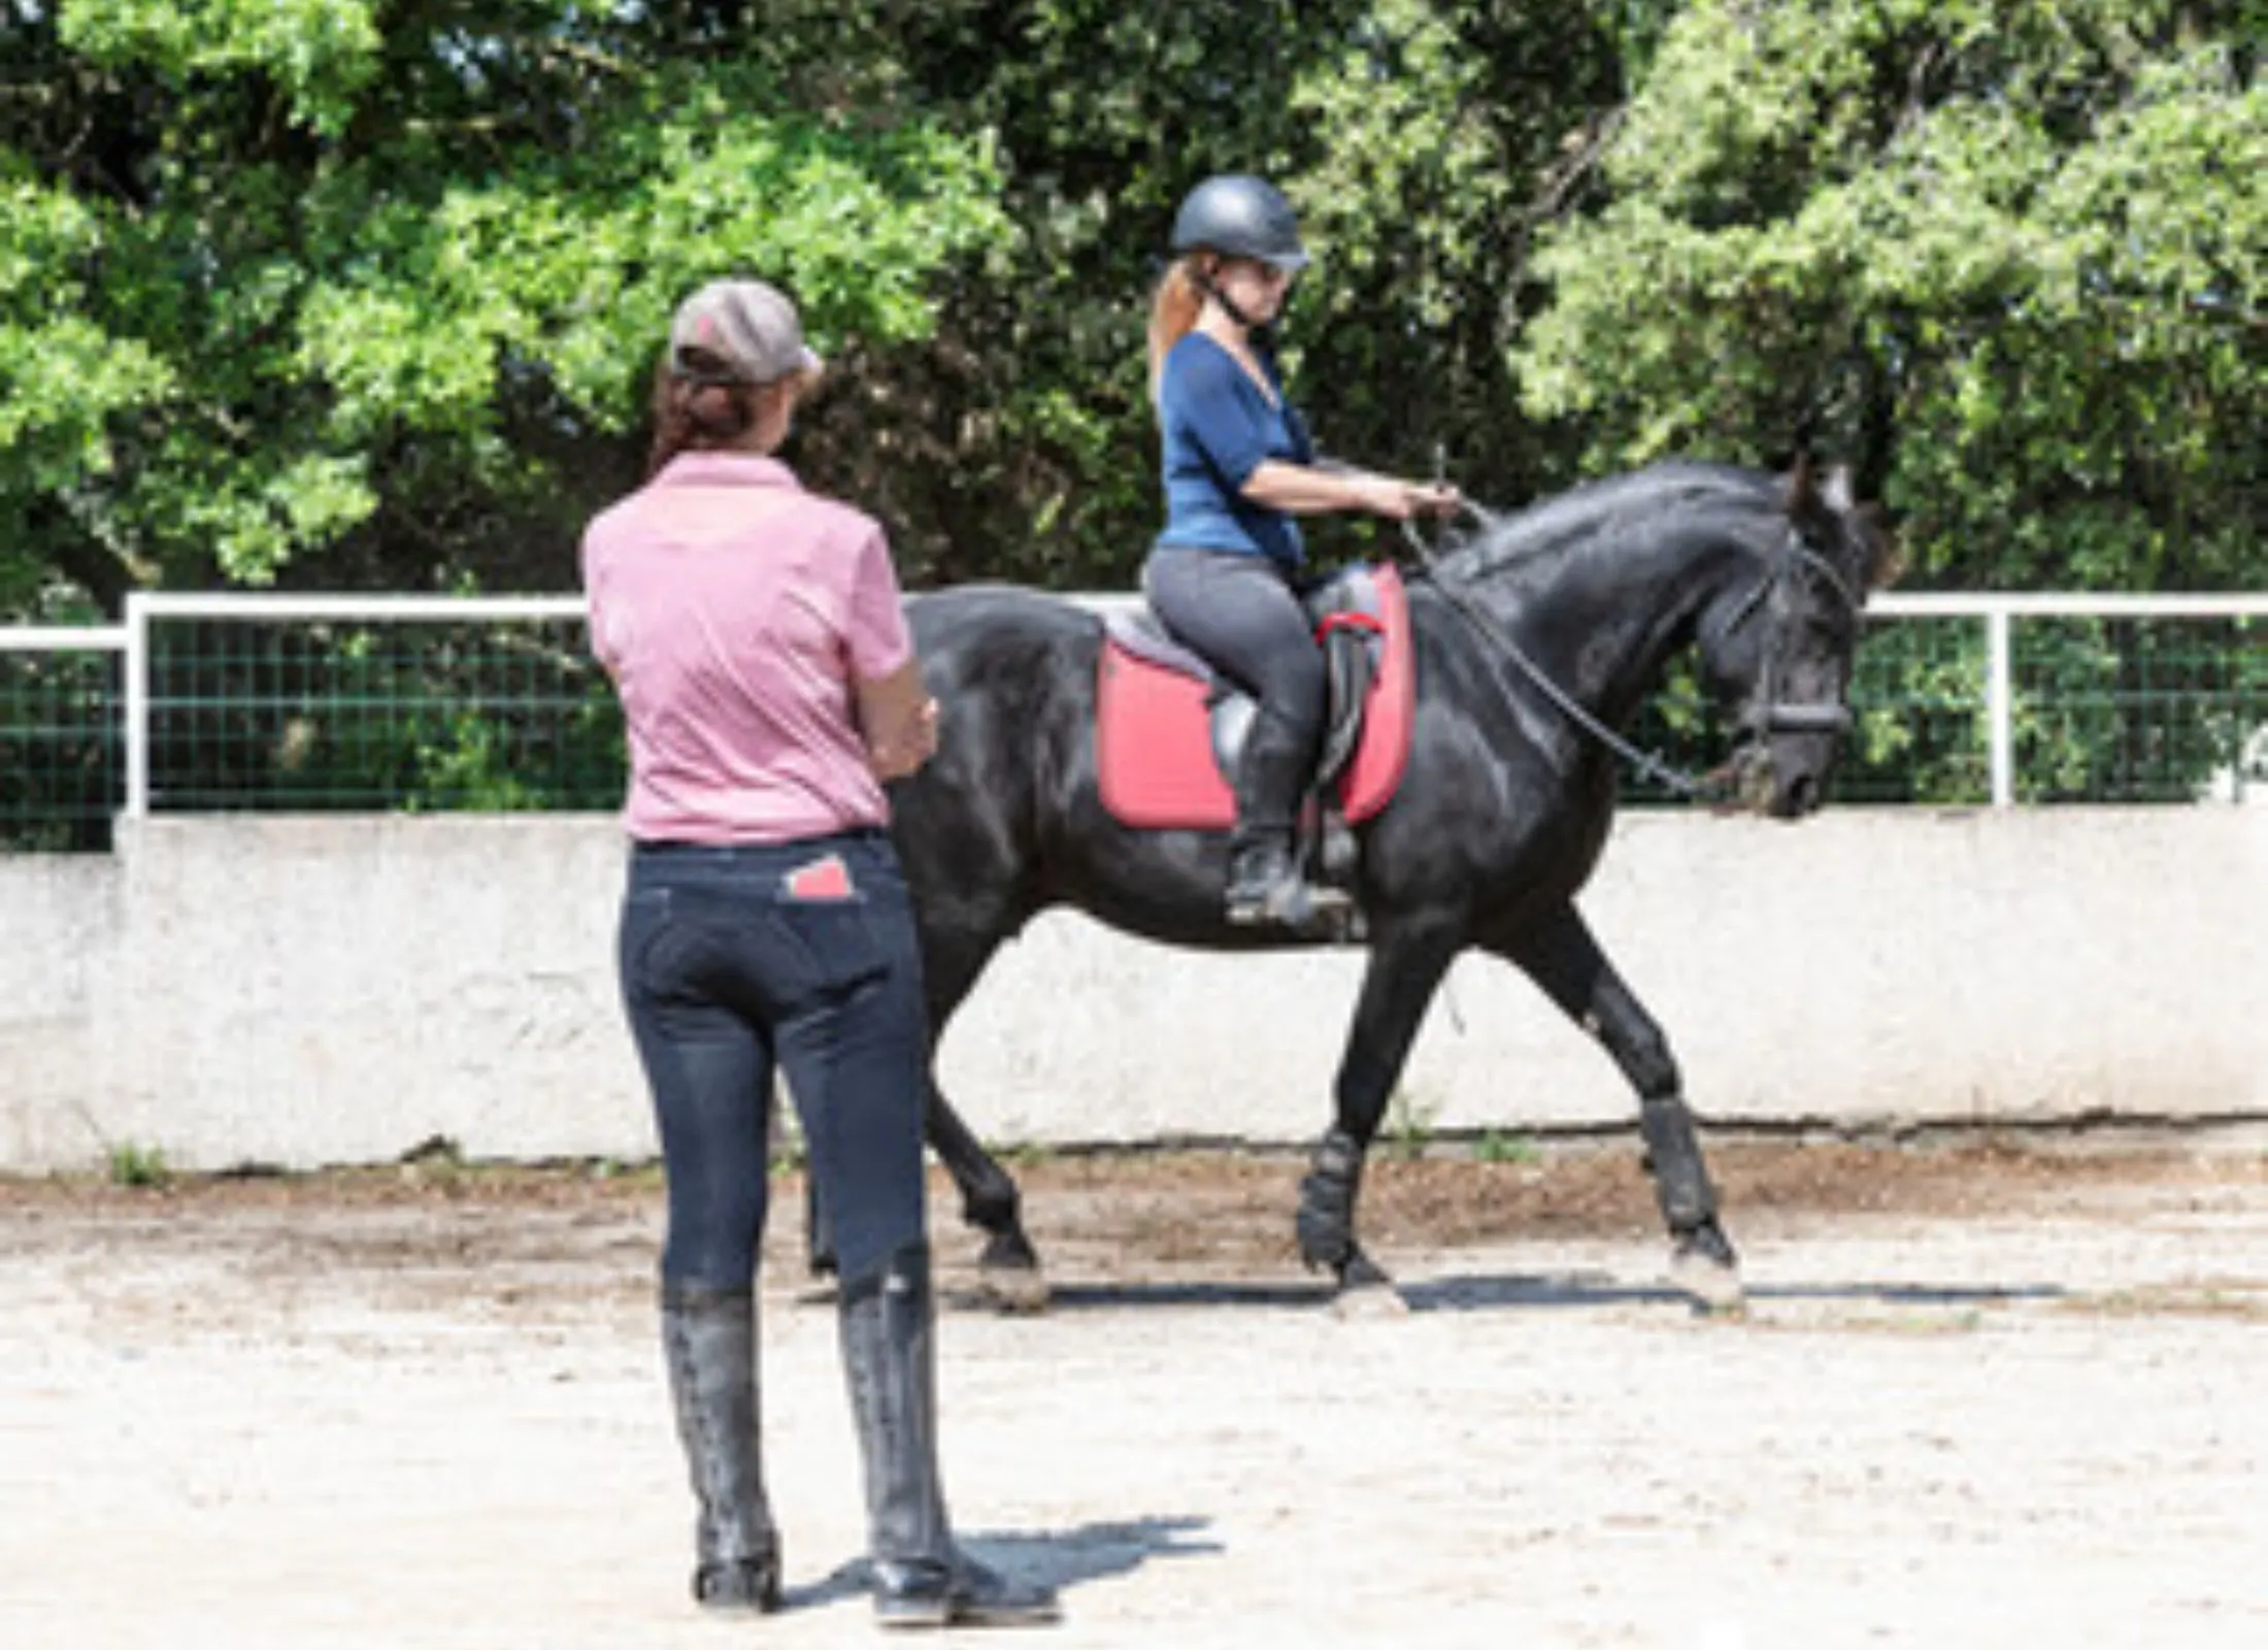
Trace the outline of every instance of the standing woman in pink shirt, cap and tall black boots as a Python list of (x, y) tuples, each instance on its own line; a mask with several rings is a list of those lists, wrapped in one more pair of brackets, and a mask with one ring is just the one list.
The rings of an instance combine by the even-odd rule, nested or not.
[(755, 1269), (773, 1074), (832, 1217), (885, 1625), (1052, 1620), (964, 1557), (937, 1471), (921, 953), (882, 781), (937, 706), (882, 529), (773, 458), (821, 363), (762, 281), (678, 309), (644, 488), (583, 533), (631, 744), (619, 969), (669, 1182), (662, 1348), (699, 1502), (694, 1598), (780, 1607)]

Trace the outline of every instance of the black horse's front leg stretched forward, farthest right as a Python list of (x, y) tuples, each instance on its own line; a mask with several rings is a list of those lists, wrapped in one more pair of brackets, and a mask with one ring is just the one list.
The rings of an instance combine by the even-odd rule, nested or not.
[(1740, 1260), (1717, 1219), (1717, 1187), (1701, 1160), (1701, 1139), (1662, 1028), (1615, 974), (1574, 906), (1524, 924), (1508, 942), (1490, 942), (1488, 949), (1520, 967), (1592, 1033), (1637, 1089), (1637, 1130), (1647, 1144), (1653, 1196), (1669, 1226), (1672, 1276), (1703, 1307), (1737, 1307)]

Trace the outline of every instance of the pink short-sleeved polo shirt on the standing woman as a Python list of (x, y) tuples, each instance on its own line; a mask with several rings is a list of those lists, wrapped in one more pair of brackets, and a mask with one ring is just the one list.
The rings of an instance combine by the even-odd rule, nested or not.
[(755, 454), (687, 452), (583, 531), (592, 649), (642, 842), (792, 842), (889, 822), (850, 683), (912, 656), (882, 529)]

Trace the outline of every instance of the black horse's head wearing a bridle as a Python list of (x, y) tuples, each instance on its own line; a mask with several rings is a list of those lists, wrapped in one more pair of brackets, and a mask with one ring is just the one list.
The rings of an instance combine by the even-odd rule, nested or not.
[(1728, 778), (1755, 813), (1801, 819), (1826, 799), (1851, 726), (1851, 658), (1867, 595), (1892, 576), (1889, 533), (1853, 504), (1844, 470), (1821, 481), (1799, 461), (1785, 527), (1753, 579), (1735, 581), (1696, 626), (1701, 667), (1744, 744)]

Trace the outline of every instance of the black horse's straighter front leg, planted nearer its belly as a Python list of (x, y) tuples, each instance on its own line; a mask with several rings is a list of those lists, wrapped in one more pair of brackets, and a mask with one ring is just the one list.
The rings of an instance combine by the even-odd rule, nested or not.
[(1456, 958), (1463, 937), (1447, 926), (1399, 926), (1372, 940), (1354, 1026), (1338, 1064), (1334, 1092), (1338, 1123), (1315, 1144), (1300, 1182), (1300, 1260), (1329, 1266), (1340, 1289), (1390, 1282), (1354, 1237), (1354, 1203), (1363, 1189), (1363, 1157), (1379, 1137), (1386, 1103), (1408, 1060), (1411, 1042), (1433, 1001), (1433, 987)]

